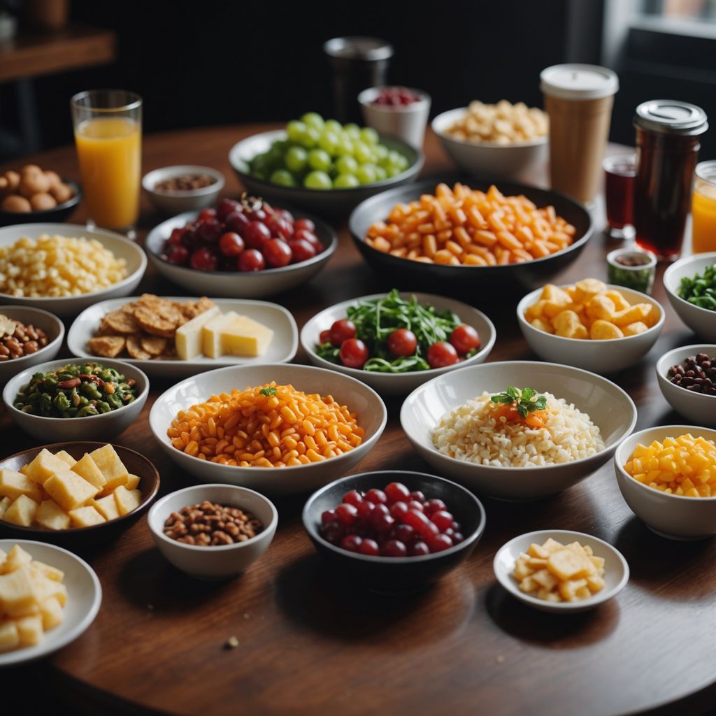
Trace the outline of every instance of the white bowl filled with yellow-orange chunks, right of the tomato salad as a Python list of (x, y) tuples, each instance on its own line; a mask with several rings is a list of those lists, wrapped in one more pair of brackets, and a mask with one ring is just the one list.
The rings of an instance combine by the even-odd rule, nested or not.
[(547, 284), (517, 305), (522, 334), (541, 359), (599, 374), (638, 363), (662, 332), (664, 315), (651, 296), (599, 279)]

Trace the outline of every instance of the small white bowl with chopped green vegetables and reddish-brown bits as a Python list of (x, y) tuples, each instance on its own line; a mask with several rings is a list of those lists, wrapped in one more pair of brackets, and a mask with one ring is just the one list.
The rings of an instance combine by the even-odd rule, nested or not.
[[(3, 402), (22, 430), (43, 442), (107, 440), (142, 412), (149, 379), (118, 360), (41, 363), (9, 380)], [(52, 442), (51, 441), (51, 442)]]

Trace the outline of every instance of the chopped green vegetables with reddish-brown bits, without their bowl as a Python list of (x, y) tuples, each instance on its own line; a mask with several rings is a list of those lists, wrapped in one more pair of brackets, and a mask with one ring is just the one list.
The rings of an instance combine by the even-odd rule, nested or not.
[(35, 373), (21, 387), (14, 407), (43, 417), (89, 417), (129, 405), (137, 397), (135, 381), (99, 363), (67, 364)]

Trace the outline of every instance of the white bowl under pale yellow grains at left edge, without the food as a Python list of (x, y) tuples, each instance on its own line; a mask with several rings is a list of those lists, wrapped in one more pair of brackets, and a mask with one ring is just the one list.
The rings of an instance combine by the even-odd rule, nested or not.
[(40, 298), (31, 299), (24, 296), (11, 296), (1, 294), (0, 301), (7, 304), (18, 304), (19, 306), (32, 306), (36, 309), (52, 311), (57, 316), (76, 316), (84, 311), (87, 306), (92, 306), (97, 301), (114, 299), (118, 296), (129, 296), (137, 288), (147, 268), (147, 256), (134, 241), (120, 236), (113, 231), (104, 228), (89, 229), (87, 226), (77, 226), (63, 223), (32, 223), (19, 224), (18, 226), (5, 226), (0, 228), (0, 248), (11, 246), (19, 238), (27, 236), (37, 238), (43, 233), (50, 236), (75, 236), (84, 238), (95, 238), (102, 246), (112, 251), (116, 258), (124, 258), (127, 262), (127, 277), (117, 281), (107, 289), (94, 291), (91, 294), (81, 296), (63, 296), (61, 298)]

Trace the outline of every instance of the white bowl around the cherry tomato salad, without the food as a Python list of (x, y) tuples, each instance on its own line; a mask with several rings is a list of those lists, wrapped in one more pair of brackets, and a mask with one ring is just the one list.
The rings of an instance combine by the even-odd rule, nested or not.
[(353, 306), (358, 301), (369, 301), (371, 299), (384, 298), (385, 294), (373, 294), (372, 296), (362, 296), (359, 299), (351, 299), (350, 301), (342, 301), (342, 303), (331, 306), (330, 308), (324, 309), (320, 313), (316, 314), (311, 318), (301, 330), (301, 346), (303, 346), (309, 361), (319, 368), (327, 368), (329, 370), (335, 370), (339, 373), (345, 373), (358, 380), (362, 380), (370, 387), (377, 390), (380, 395), (407, 395), (411, 390), (415, 390), (418, 385), (424, 383), (426, 380), (434, 378), (436, 375), (446, 373), (456, 368), (463, 368), (467, 365), (477, 365), (483, 363), (487, 359), (490, 351), (495, 345), (495, 338), (497, 333), (495, 332), (495, 326), (493, 322), (488, 319), (482, 311), (474, 309), (473, 306), (463, 304), (460, 301), (453, 299), (446, 299), (443, 296), (433, 296), (432, 294), (412, 294), (404, 291), (400, 294), (403, 299), (410, 299), (410, 296), (415, 295), (421, 304), (430, 304), (434, 306), (437, 311), (450, 310), (460, 316), (460, 320), (464, 323), (473, 326), (480, 335), (481, 346), (480, 350), (473, 356), (461, 363), (451, 365), (445, 368), (434, 368), (430, 370), (420, 370), (412, 373), (379, 373), (369, 370), (362, 370), (358, 368), (347, 368), (344, 365), (339, 365), (327, 361), (321, 358), (314, 351), (314, 347), (318, 342), (321, 331), (329, 329), (333, 321), (346, 317), (346, 309), (348, 306)]

